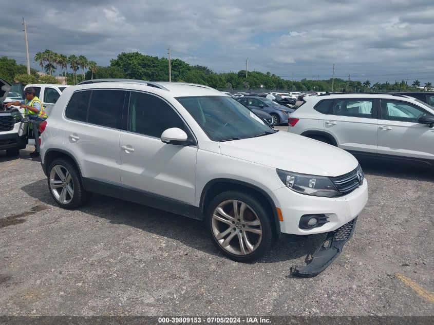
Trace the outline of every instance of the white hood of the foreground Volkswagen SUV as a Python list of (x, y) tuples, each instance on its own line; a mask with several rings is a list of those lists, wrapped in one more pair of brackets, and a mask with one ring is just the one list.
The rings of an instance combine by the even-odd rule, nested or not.
[(222, 155), (300, 174), (341, 176), (358, 165), (342, 149), (284, 131), (219, 144)]

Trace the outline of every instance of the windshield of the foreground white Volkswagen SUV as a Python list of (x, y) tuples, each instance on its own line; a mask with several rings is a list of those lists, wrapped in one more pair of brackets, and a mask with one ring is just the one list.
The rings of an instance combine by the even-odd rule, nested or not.
[(177, 100), (213, 141), (247, 139), (275, 132), (231, 97), (195, 96)]

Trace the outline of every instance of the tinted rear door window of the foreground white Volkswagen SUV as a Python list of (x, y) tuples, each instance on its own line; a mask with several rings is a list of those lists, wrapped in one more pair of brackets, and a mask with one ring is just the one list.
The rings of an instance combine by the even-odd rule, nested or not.
[(93, 90), (87, 121), (120, 129), (124, 99), (124, 90)]

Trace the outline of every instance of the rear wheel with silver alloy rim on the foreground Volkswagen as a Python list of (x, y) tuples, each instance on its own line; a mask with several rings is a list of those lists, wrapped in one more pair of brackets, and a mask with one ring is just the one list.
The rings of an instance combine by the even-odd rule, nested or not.
[(64, 209), (77, 208), (86, 201), (80, 171), (68, 159), (55, 159), (50, 164), (48, 188), (54, 201)]

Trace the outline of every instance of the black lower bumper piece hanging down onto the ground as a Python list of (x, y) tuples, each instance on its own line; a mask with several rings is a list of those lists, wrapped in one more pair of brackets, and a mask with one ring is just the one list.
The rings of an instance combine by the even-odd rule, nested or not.
[(306, 266), (295, 266), (292, 275), (302, 278), (311, 278), (323, 272), (341, 254), (345, 243), (351, 238), (354, 232), (357, 217), (350, 222), (327, 233), (327, 238), (319, 246), (312, 259)]

